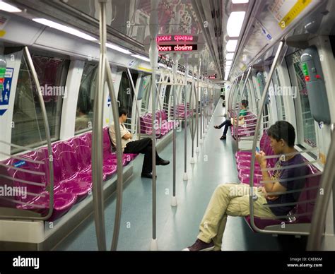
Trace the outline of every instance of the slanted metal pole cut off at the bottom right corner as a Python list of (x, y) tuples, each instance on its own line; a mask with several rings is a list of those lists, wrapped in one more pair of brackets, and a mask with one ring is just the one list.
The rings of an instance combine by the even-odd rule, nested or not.
[[(331, 133), (331, 145), (328, 150), (327, 162), (321, 177), (320, 189), (324, 195), (317, 195), (310, 226), (310, 236), (307, 241), (307, 251), (319, 251), (322, 244), (322, 234), (326, 224), (327, 208), (331, 196), (331, 187), (335, 184), (335, 134)], [(334, 193), (333, 193), (334, 195)]]

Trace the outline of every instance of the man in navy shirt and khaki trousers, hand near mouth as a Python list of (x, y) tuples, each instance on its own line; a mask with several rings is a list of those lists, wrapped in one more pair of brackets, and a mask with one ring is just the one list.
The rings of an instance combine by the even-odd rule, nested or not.
[[(264, 181), (273, 180), (275, 182), (266, 182), (264, 187), (255, 188), (254, 195), (257, 195), (257, 200), (254, 202), (254, 215), (259, 218), (274, 219), (277, 216), (286, 216), (295, 207), (290, 203), (298, 201), (300, 191), (297, 190), (302, 189), (305, 185), (305, 179), (301, 177), (307, 174), (307, 165), (299, 165), (304, 163), (300, 154), (289, 154), (295, 153), (295, 131), (291, 124), (287, 121), (277, 121), (269, 128), (268, 135), (274, 153), (287, 155), (285, 159), (278, 161), (276, 167), (286, 167), (286, 169), (276, 170), (272, 178), (267, 171), (262, 171)], [(261, 169), (266, 169), (264, 157), (263, 151), (256, 153), (256, 160)], [(287, 168), (288, 166), (293, 167)], [(284, 191), (289, 192), (280, 193)], [(266, 204), (275, 206), (269, 207)], [(184, 250), (221, 250), (228, 215), (249, 215), (249, 186), (247, 184), (221, 184), (216, 188), (204, 218), (201, 220), (198, 239)]]

